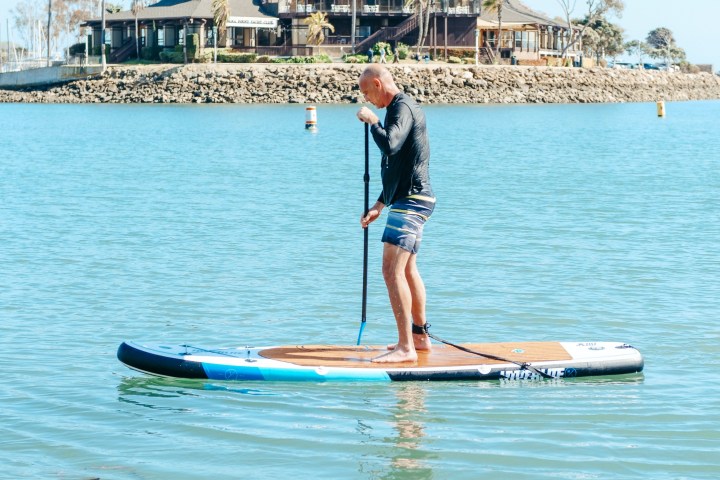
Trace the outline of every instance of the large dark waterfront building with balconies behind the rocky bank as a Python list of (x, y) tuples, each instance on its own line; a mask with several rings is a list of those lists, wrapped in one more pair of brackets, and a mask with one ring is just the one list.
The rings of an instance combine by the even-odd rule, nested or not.
[[(485, 63), (543, 62), (558, 57), (568, 41), (567, 26), (525, 6), (504, 0), (502, 34), (497, 15), (483, 11), (481, 0), (430, 0), (424, 46), (435, 57), (447, 58), (455, 49), (474, 49), (476, 36)], [(228, 31), (220, 32), (219, 47), (260, 55), (312, 55), (364, 53), (377, 42), (415, 45), (420, 21), (405, 0), (228, 0)], [(324, 12), (335, 27), (325, 42), (307, 44), (305, 19)], [(123, 61), (135, 52), (135, 15), (131, 11), (108, 13), (106, 43), (110, 61)], [(143, 47), (173, 49), (187, 34), (198, 34), (201, 49), (212, 47), (212, 0), (160, 0), (137, 15)], [(353, 35), (353, 23), (355, 32)], [(86, 22), (92, 28), (95, 49), (100, 46), (100, 19)], [(499, 44), (499, 49), (496, 48)], [(579, 45), (575, 47), (579, 49)], [(495, 59), (495, 52), (500, 58)], [(578, 50), (569, 52), (570, 56)]]

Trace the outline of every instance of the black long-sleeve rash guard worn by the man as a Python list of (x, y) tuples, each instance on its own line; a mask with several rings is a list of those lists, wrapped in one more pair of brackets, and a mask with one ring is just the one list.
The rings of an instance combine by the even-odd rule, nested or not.
[(378, 201), (392, 205), (408, 195), (434, 197), (425, 114), (415, 100), (404, 93), (395, 95), (387, 106), (385, 126), (378, 122), (370, 131), (383, 154)]

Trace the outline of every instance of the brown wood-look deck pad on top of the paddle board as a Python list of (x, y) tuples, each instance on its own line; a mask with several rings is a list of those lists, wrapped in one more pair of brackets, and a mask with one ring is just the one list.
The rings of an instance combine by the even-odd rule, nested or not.
[[(516, 362), (571, 360), (572, 357), (558, 342), (470, 343), (463, 347)], [(433, 344), (432, 352), (418, 351), (417, 363), (371, 363), (370, 360), (387, 349), (379, 346), (299, 345), (261, 350), (262, 357), (306, 367), (460, 367), (504, 363), (473, 355), (456, 348)]]

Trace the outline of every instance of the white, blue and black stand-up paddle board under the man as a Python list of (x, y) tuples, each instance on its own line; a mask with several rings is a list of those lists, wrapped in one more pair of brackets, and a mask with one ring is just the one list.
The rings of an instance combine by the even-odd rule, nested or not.
[[(151, 375), (212, 380), (409, 381), (569, 378), (641, 372), (634, 347), (613, 342), (508, 342), (448, 345), (417, 362), (372, 363), (384, 347), (302, 345), (203, 348), (124, 342), (118, 359)], [(484, 356), (484, 355), (487, 355)]]

